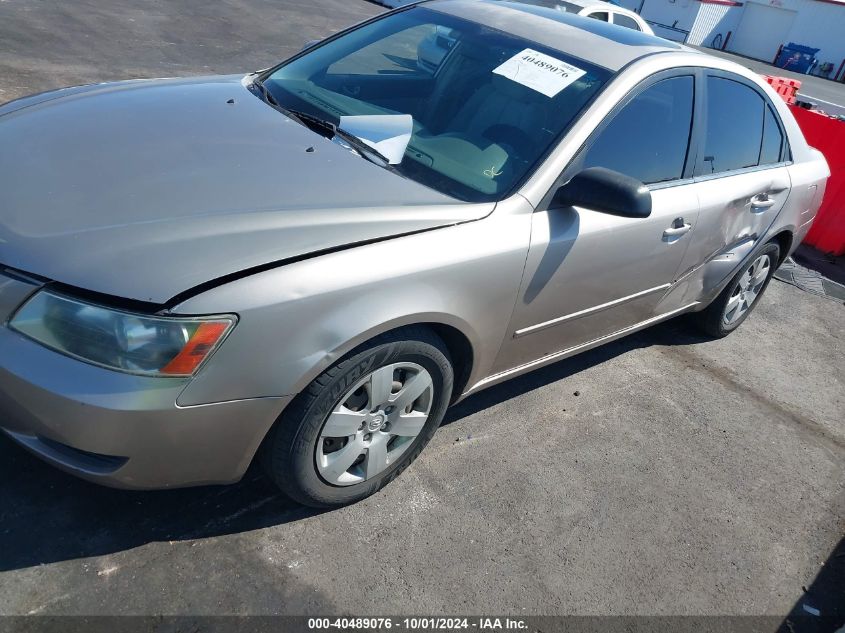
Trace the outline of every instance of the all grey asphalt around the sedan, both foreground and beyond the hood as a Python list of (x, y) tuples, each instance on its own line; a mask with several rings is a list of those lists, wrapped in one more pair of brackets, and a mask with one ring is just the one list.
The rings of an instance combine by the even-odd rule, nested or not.
[[(7, 0), (0, 98), (260, 68), (376, 11)], [(775, 281), (728, 338), (676, 320), (515, 379), (331, 512), (256, 470), (100, 488), (0, 439), (0, 614), (845, 616), (843, 316)]]

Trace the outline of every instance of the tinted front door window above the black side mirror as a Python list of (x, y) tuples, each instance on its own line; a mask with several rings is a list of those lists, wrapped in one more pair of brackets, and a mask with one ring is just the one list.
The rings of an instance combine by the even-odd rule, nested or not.
[(694, 91), (691, 76), (664, 79), (647, 88), (599, 132), (580, 167), (606, 167), (646, 184), (683, 177)]

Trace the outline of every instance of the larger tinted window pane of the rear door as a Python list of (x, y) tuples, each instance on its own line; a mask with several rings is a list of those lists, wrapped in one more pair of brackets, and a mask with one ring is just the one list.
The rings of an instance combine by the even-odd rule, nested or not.
[(704, 160), (696, 175), (754, 167), (763, 139), (763, 98), (730, 79), (707, 78), (707, 132)]

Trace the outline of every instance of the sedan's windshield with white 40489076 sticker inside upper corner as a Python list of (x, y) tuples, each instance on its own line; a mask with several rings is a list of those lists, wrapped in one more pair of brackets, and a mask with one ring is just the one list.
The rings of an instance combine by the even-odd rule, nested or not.
[(282, 108), (335, 125), (360, 125), (367, 116), (375, 126), (408, 121), (410, 140), (402, 137), (390, 168), (483, 202), (519, 186), (610, 75), (535, 42), (415, 7), (318, 46), (264, 84)]

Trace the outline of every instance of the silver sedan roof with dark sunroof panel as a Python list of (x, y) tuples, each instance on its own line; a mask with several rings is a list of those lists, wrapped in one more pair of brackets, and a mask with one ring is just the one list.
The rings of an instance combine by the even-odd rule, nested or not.
[(503, 0), (431, 0), (422, 6), (537, 42), (614, 72), (652, 53), (690, 50), (634, 29), (548, 7)]

